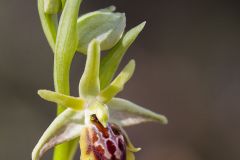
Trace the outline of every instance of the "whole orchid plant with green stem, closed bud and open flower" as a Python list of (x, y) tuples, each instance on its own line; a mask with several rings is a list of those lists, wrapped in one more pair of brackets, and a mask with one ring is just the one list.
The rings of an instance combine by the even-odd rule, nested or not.
[[(81, 160), (134, 160), (140, 148), (134, 147), (124, 127), (149, 121), (167, 123), (165, 116), (116, 97), (131, 79), (135, 60), (113, 77), (145, 22), (123, 36), (125, 14), (114, 13), (115, 7), (111, 6), (78, 18), (80, 4), (81, 0), (38, 0), (44, 33), (54, 51), (56, 90), (39, 90), (38, 94), (56, 103), (59, 114), (39, 139), (32, 160), (40, 160), (51, 148), (76, 139)], [(57, 24), (56, 14), (61, 9)], [(108, 53), (101, 58), (103, 50)], [(69, 71), (76, 51), (86, 55), (78, 97), (69, 95)]]

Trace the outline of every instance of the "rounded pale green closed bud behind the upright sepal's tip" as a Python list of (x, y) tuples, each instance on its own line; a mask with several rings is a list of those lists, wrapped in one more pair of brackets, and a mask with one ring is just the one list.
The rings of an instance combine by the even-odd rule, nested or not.
[(98, 39), (101, 50), (108, 50), (121, 39), (126, 26), (123, 13), (112, 13), (115, 7), (105, 8), (78, 19), (78, 51), (86, 54), (92, 39)]

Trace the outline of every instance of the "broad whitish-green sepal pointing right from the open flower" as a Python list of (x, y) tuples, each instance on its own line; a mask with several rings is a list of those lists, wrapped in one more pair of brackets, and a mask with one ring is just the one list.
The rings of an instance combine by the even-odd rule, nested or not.
[(122, 126), (131, 126), (143, 122), (156, 121), (167, 124), (167, 118), (121, 98), (113, 98), (109, 103), (111, 119)]

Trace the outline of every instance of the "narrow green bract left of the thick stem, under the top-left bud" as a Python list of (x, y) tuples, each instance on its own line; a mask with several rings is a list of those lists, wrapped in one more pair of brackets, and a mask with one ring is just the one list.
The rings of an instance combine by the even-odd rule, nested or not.
[(58, 26), (57, 15), (46, 14), (44, 12), (44, 0), (38, 0), (38, 13), (45, 36), (51, 49), (54, 51)]

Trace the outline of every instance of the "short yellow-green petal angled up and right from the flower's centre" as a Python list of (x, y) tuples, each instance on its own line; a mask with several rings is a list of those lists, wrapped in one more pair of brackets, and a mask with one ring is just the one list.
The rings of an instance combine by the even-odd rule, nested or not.
[(112, 83), (101, 91), (99, 95), (100, 101), (107, 103), (121, 90), (123, 90), (124, 85), (132, 77), (134, 70), (135, 61), (131, 60), (122, 72), (112, 81)]

